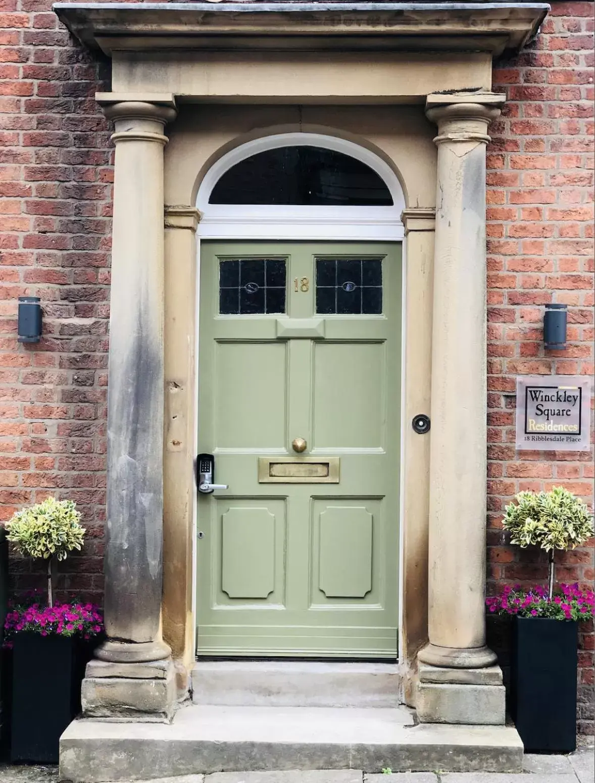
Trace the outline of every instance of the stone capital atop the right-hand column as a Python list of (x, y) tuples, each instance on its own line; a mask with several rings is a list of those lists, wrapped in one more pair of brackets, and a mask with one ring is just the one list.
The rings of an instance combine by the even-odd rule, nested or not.
[(499, 92), (431, 93), (426, 99), (426, 116), (438, 125), (435, 143), (489, 143), (488, 126), (499, 117), (505, 101), (506, 96)]

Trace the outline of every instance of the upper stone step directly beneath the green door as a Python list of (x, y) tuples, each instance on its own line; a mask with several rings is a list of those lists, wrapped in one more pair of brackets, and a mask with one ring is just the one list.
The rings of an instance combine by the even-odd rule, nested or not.
[(194, 704), (269, 707), (397, 707), (396, 663), (198, 661)]

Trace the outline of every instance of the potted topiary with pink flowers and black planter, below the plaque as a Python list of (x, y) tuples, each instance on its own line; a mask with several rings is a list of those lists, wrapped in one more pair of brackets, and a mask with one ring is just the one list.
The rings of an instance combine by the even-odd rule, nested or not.
[(513, 617), (510, 713), (527, 752), (576, 748), (578, 624), (593, 619), (593, 591), (579, 584), (554, 589), (556, 550), (575, 549), (593, 536), (586, 503), (563, 487), (521, 492), (506, 507), (503, 528), (522, 549), (549, 554), (547, 587), (507, 586), (486, 600), (489, 612)]

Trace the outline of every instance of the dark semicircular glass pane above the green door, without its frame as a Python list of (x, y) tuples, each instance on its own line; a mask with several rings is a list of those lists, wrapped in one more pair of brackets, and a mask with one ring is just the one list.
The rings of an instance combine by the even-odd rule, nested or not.
[(301, 204), (390, 207), (376, 171), (355, 158), (312, 146), (258, 153), (226, 171), (210, 204)]

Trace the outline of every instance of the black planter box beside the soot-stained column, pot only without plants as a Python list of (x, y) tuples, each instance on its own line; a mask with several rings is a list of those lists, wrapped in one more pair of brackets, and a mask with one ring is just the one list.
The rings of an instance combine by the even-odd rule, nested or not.
[(81, 710), (93, 645), (38, 633), (17, 633), (13, 641), (10, 760), (57, 763), (60, 734)]

